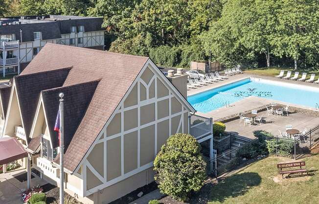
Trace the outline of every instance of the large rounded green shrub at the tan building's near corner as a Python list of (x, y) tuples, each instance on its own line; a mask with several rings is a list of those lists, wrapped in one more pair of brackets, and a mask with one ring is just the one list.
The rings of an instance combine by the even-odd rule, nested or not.
[(189, 134), (174, 134), (168, 138), (154, 161), (155, 180), (160, 191), (179, 201), (185, 201), (204, 184), (206, 163), (201, 146)]

